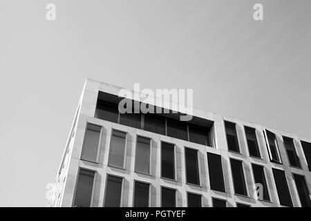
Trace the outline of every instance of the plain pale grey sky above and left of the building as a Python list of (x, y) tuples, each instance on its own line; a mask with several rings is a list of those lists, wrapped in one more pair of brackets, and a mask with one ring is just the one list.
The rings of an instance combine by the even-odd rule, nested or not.
[[(254, 21), (254, 3), (264, 21)], [(0, 206), (46, 206), (86, 77), (193, 88), (197, 108), (311, 137), (310, 6), (0, 1)]]

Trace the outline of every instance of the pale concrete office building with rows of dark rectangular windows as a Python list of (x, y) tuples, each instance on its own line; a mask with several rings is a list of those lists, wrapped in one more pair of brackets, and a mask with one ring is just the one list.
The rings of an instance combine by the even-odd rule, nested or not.
[(121, 89), (86, 80), (51, 206), (311, 206), (310, 138), (197, 109), (121, 114)]

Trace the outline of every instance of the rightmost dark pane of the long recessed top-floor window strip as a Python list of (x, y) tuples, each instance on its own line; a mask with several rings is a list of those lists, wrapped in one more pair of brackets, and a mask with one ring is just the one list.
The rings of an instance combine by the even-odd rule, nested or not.
[(196, 144), (210, 146), (209, 144), (209, 129), (189, 124), (189, 141)]

